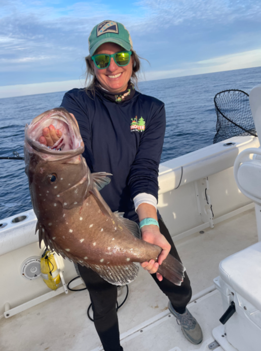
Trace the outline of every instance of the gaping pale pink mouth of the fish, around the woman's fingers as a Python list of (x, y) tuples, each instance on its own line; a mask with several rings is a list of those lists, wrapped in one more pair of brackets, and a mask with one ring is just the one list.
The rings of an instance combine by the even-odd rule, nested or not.
[[(43, 129), (50, 125), (59, 129), (62, 136), (53, 146), (46, 146), (39, 142), (39, 138), (43, 136)], [(41, 148), (46, 153), (76, 150), (83, 146), (77, 122), (64, 108), (54, 108), (35, 117), (26, 126), (25, 139), (34, 149)]]

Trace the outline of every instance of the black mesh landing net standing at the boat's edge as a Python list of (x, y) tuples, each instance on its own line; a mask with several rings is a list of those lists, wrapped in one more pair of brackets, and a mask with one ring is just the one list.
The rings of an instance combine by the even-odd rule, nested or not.
[(257, 136), (248, 94), (242, 90), (224, 90), (214, 97), (217, 115), (213, 143), (236, 135)]

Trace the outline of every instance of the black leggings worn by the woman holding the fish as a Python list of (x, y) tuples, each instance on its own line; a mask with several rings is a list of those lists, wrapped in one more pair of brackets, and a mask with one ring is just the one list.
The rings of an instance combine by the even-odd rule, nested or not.
[[(180, 261), (170, 233), (162, 219), (159, 220), (160, 232), (171, 245), (170, 253)], [(79, 266), (81, 277), (89, 290), (94, 325), (100, 337), (104, 351), (122, 351), (120, 345), (119, 323), (116, 311), (117, 286), (103, 280), (90, 268)], [(185, 272), (185, 278), (181, 286), (172, 284), (163, 278), (160, 282), (156, 274), (152, 274), (159, 288), (168, 296), (175, 310), (182, 313), (189, 303), (192, 295), (190, 280)]]

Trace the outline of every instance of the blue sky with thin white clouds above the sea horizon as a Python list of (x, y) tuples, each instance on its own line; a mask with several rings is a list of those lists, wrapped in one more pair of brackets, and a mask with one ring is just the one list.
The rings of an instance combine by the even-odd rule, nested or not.
[(0, 0), (0, 98), (84, 87), (103, 20), (150, 62), (140, 80), (261, 66), (260, 0)]

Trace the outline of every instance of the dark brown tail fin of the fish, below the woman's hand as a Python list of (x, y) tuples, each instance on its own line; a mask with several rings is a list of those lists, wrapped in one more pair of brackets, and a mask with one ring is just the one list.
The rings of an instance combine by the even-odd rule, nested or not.
[(168, 255), (158, 268), (158, 272), (175, 285), (181, 285), (185, 267), (172, 255)]

